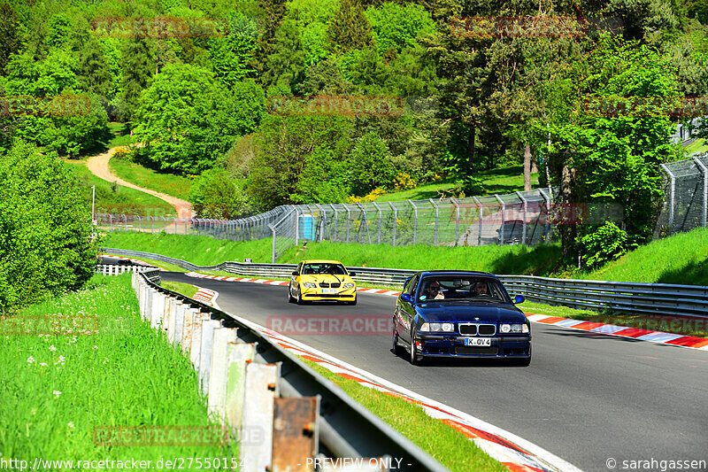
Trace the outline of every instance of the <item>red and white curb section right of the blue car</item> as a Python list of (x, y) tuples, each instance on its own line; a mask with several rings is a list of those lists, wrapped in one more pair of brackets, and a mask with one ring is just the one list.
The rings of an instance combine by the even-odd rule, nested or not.
[(631, 337), (642, 341), (651, 341), (652, 343), (671, 344), (708, 351), (708, 339), (704, 337), (677, 335), (675, 333), (650, 331), (648, 329), (627, 328), (627, 326), (617, 326), (614, 324), (598, 323), (594, 321), (573, 320), (572, 318), (561, 318), (559, 316), (549, 316), (548, 314), (527, 313), (527, 318), (537, 323), (570, 329), (580, 329), (582, 331), (588, 331), (589, 333), (598, 333), (617, 337)]

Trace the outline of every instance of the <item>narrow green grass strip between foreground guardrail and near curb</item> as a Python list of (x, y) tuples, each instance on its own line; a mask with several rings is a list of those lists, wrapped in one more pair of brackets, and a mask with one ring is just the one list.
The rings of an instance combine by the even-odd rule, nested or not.
[(304, 361), (453, 472), (509, 471), (458, 430), (428, 416), (420, 406), (363, 387), (353, 380), (321, 368), (315, 362)]

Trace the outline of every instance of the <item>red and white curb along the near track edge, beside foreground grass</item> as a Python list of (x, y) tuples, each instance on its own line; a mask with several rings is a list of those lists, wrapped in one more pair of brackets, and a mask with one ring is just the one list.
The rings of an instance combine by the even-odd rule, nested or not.
[[(200, 291), (202, 290), (206, 289), (200, 289)], [(212, 300), (219, 295), (219, 292), (214, 290), (209, 290), (209, 292), (214, 294)], [(497, 428), (493, 424), (483, 422), (470, 414), (443, 405), (431, 398), (419, 395), (414, 391), (409, 391), (400, 385), (390, 383), (377, 375), (366, 372), (366, 370), (356, 368), (343, 360), (338, 360), (325, 352), (302, 344), (295, 339), (282, 336), (272, 329), (264, 328), (253, 321), (246, 320), (232, 313), (229, 314), (251, 329), (255, 329), (266, 337), (269, 337), (274, 343), (280, 345), (281, 348), (298, 357), (316, 362), (319, 366), (327, 368), (330, 372), (353, 380), (364, 387), (381, 391), (392, 397), (403, 398), (413, 405), (420, 406), (428, 416), (440, 420), (451, 428), (458, 430), (465, 435), (465, 437), (473, 440), (482, 451), (488, 453), (490, 457), (498, 460), (514, 472), (580, 472), (579, 468), (574, 467), (572, 464), (566, 462), (566, 460), (560, 459), (558, 456), (549, 453), (543, 448), (509, 431)]]

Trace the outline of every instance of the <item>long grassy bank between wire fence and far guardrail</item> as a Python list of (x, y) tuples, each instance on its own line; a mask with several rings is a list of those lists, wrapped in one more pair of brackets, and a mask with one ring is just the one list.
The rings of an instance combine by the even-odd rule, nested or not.
[[(234, 243), (207, 236), (120, 233), (107, 235), (103, 246), (157, 252), (199, 265), (251, 258), (270, 262), (271, 240)], [(385, 244), (309, 243), (291, 248), (278, 262), (338, 259), (347, 266), (392, 268), (459, 268), (495, 274), (550, 275), (560, 257), (558, 244), (482, 247), (391, 247)], [(708, 285), (708, 228), (654, 241), (591, 273), (574, 278), (619, 282)]]

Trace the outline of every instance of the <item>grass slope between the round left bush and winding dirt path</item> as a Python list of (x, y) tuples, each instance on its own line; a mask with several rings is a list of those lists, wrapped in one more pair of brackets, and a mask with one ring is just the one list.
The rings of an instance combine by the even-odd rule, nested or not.
[(164, 200), (139, 190), (121, 187), (99, 179), (89, 172), (86, 160), (65, 160), (73, 170), (80, 184), (86, 189), (85, 195), (91, 205), (91, 186), (96, 186), (96, 213), (130, 214), (140, 216), (174, 215), (174, 208)]

